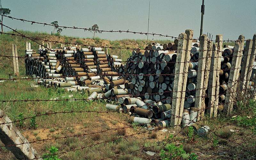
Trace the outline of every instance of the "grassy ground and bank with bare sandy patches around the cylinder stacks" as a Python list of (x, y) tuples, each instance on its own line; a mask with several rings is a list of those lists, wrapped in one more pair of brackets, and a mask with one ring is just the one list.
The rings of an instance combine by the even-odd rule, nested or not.
[[(101, 39), (87, 40), (75, 39), (75, 37), (51, 36), (45, 33), (24, 32), (28, 36), (39, 38), (60, 39), (66, 43), (95, 43), (97, 45), (122, 46), (122, 47), (145, 47), (148, 43), (144, 40), (120, 40), (108, 41)], [(86, 42), (88, 41), (88, 42)], [(163, 43), (158, 41), (159, 43)], [(0, 35), (0, 51), (2, 55), (12, 55), (11, 43), (15, 43), (19, 49), (19, 56), (23, 56), (25, 50), (25, 39)], [(38, 45), (31, 42), (32, 49), (38, 48)], [(55, 47), (55, 46), (53, 46)], [(109, 49), (109, 53), (119, 55), (119, 50)], [(112, 54), (111, 53), (111, 54)], [(121, 50), (122, 59), (131, 55), (130, 51)], [(24, 76), (24, 59), (19, 59), (20, 75)], [(0, 57), (0, 77), (7, 78), (8, 73), (12, 73), (12, 58)], [(86, 98), (86, 94), (63, 92), (61, 89), (46, 89), (42, 86), (38, 88), (30, 87), (33, 81), (7, 81), (0, 83), (0, 100), (26, 100), (41, 99), (51, 100), (67, 99), (68, 95), (73, 94), (69, 99)], [(28, 101), (28, 102), (4, 102), (0, 108), (12, 120), (19, 120), (29, 116), (35, 116), (44, 113), (61, 111), (104, 111), (104, 101), (87, 102), (84, 100), (76, 101)], [(103, 130), (114, 129), (128, 126), (128, 115), (111, 113), (65, 113), (53, 114), (47, 116), (37, 116), (35, 119), (27, 119), (16, 123), (23, 135), (29, 140), (42, 140), (49, 138), (60, 138), (64, 136), (75, 136), (66, 139), (37, 141), (32, 143), (33, 147), (40, 155), (48, 152), (46, 148), (55, 147), (57, 153), (70, 151), (65, 154), (57, 155), (61, 159), (101, 159), (116, 154), (129, 153), (124, 156), (114, 157), (113, 159), (150, 159), (152, 157), (145, 154), (145, 151), (156, 152), (153, 159), (193, 159), (195, 154), (198, 159), (254, 159), (255, 150), (255, 127), (256, 127), (256, 103), (255, 101), (241, 101), (236, 105), (233, 115), (236, 117), (227, 117), (220, 115), (215, 119), (206, 119), (203, 124), (210, 126), (213, 132), (209, 132), (206, 137), (198, 137), (193, 132), (184, 132), (167, 128), (163, 132), (161, 128), (153, 132), (138, 133), (140, 127), (129, 127), (125, 130), (109, 130), (102, 133)], [(71, 128), (68, 128), (71, 127)], [(235, 132), (231, 132), (231, 131)], [(177, 136), (175, 136), (179, 133)], [(77, 136), (83, 135), (84, 136)], [(87, 135), (88, 134), (88, 135)], [(122, 138), (123, 136), (133, 136)], [(108, 141), (107, 143), (101, 143)], [(159, 142), (169, 142), (165, 144)], [(180, 146), (182, 145), (182, 146)], [(86, 147), (91, 146), (91, 147)], [(156, 146), (148, 148), (150, 146)], [(84, 148), (84, 149), (80, 149)], [(245, 149), (248, 148), (248, 149)], [(13, 159), (14, 156), (1, 147), (0, 159)]]

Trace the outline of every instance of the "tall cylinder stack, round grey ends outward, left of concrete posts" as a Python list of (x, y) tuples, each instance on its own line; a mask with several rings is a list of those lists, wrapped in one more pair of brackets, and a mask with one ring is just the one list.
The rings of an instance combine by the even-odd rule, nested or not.
[(171, 103), (176, 57), (176, 51), (149, 50), (144, 54), (133, 51), (123, 71), (129, 80), (126, 85), (129, 93)]

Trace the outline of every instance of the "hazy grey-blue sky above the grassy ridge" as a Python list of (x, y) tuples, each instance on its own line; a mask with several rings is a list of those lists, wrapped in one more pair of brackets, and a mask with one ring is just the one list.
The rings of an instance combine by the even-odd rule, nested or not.
[[(2, 0), (10, 16), (44, 23), (57, 20), (61, 26), (89, 28), (98, 24), (103, 30), (147, 32), (149, 0)], [(200, 33), (202, 0), (151, 0), (149, 32), (178, 36), (185, 29)], [(205, 0), (203, 33), (223, 34), (224, 39), (245, 39), (256, 33), (256, 0)], [(12, 28), (51, 33), (53, 27), (4, 18)], [(5, 28), (5, 30), (7, 30)], [(92, 33), (63, 29), (61, 35), (92, 37)], [(97, 33), (104, 39), (147, 39), (132, 33)], [(149, 35), (149, 39), (166, 39)], [(215, 38), (213, 38), (215, 39)]]

